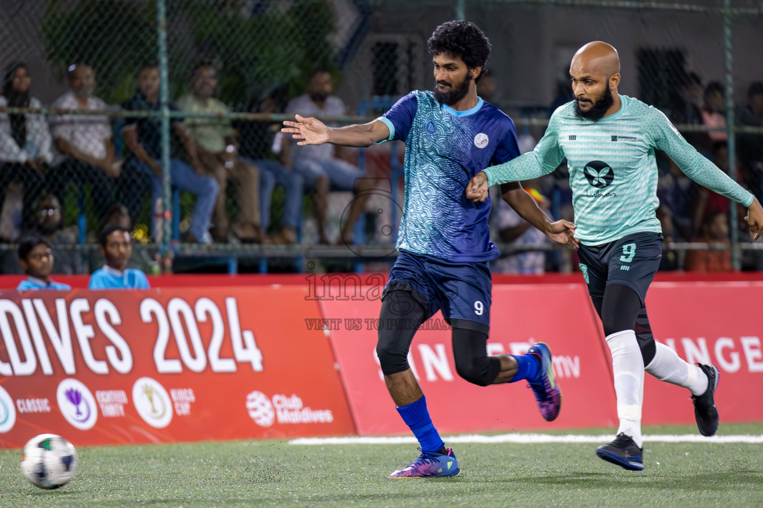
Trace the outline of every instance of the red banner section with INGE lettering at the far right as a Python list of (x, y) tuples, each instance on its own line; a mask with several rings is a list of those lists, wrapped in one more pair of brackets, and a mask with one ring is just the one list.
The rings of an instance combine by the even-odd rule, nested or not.
[[(763, 283), (652, 283), (646, 297), (655, 338), (689, 363), (720, 371), (723, 422), (763, 420)], [(694, 423), (686, 388), (645, 375), (643, 423)]]

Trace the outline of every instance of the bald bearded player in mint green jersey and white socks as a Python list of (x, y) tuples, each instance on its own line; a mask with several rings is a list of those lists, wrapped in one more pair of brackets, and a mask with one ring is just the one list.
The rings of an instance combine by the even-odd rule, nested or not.
[(549, 174), (567, 158), (580, 267), (612, 353), (620, 419), (617, 438), (599, 446), (597, 455), (640, 471), (644, 370), (691, 391), (703, 436), (718, 428), (713, 400), (718, 369), (690, 365), (655, 342), (646, 314), (646, 290), (662, 257), (655, 149), (665, 151), (697, 183), (748, 207), (755, 239), (763, 231), (763, 209), (689, 145), (659, 110), (617, 93), (620, 59), (612, 46), (592, 42), (581, 47), (570, 77), (575, 100), (555, 110), (536, 149), (476, 174), (466, 196), (485, 200), (491, 185)]

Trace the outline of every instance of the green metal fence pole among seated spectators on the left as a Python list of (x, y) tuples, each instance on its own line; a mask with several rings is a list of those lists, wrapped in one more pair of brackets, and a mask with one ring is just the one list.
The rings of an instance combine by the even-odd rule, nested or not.
[(162, 189), (164, 206), (164, 234), (160, 251), (169, 259), (169, 241), (172, 239), (172, 181), (169, 177), (169, 73), (167, 72), (167, 5), (166, 0), (156, 2), (156, 27), (159, 37), (159, 104), (162, 117)]

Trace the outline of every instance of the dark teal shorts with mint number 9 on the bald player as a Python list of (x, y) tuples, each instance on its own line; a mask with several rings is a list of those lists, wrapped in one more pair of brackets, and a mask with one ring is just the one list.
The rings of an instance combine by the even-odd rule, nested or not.
[(604, 298), (604, 289), (610, 284), (621, 284), (638, 293), (643, 305), (660, 266), (662, 235), (633, 233), (608, 244), (581, 245), (578, 256), (592, 299)]

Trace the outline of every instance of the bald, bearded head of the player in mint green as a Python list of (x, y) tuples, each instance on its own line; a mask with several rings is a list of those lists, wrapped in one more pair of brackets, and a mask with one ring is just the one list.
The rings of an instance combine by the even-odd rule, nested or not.
[(599, 120), (614, 104), (620, 84), (620, 56), (607, 43), (596, 40), (581, 47), (570, 63), (575, 112)]

